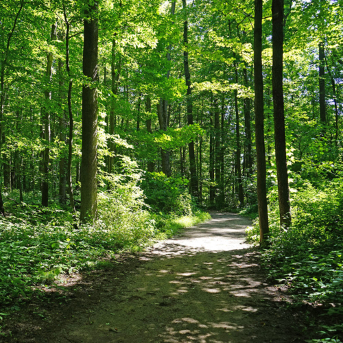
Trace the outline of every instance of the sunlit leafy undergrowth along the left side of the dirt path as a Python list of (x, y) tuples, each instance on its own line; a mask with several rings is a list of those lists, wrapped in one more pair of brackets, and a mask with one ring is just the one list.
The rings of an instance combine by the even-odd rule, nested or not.
[(63, 274), (102, 269), (117, 253), (142, 250), (156, 239), (209, 219), (194, 206), (185, 215), (152, 211), (137, 186), (139, 178), (118, 176), (113, 180), (116, 187), (99, 193), (94, 225), (75, 222), (69, 209), (57, 202), (43, 208), (37, 194), (24, 193), (24, 202), (19, 203), (16, 192), (5, 193), (8, 215), (0, 217), (0, 303), (27, 300), (38, 292), (37, 285), (54, 283)]

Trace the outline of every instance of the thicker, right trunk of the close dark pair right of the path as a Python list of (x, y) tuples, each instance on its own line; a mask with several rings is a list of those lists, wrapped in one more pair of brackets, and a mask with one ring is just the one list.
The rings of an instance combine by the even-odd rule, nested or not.
[(289, 204), (285, 113), (283, 106), (283, 0), (272, 0), (272, 49), (275, 159), (279, 190), (280, 224), (289, 228), (292, 217)]

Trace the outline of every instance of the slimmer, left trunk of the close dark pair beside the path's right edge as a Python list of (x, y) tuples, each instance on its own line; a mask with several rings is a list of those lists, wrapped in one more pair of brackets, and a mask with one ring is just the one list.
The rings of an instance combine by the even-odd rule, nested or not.
[(265, 182), (265, 145), (262, 74), (262, 8), (263, 0), (255, 0), (254, 76), (255, 76), (255, 141), (257, 164), (257, 202), (259, 204), (260, 244), (269, 235), (267, 187)]

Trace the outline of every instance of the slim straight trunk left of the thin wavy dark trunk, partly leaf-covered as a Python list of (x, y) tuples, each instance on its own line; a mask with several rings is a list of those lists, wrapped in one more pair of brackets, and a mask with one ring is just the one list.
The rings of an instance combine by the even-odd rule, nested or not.
[[(51, 40), (56, 40), (57, 23), (51, 25)], [(44, 92), (45, 108), (43, 109), (43, 126), (44, 126), (44, 141), (45, 149), (43, 153), (43, 182), (42, 182), (42, 206), (48, 206), (49, 203), (49, 163), (50, 163), (50, 109), (49, 102), (51, 102), (51, 77), (52, 77), (52, 62), (54, 56), (51, 52), (47, 53), (47, 70), (45, 76), (47, 79), (48, 89)]]

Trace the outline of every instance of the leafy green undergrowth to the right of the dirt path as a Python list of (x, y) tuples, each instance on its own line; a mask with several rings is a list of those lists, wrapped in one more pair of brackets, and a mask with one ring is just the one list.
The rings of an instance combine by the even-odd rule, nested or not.
[[(270, 191), (270, 246), (262, 254), (271, 279), (287, 285), (295, 303), (320, 306), (332, 324), (329, 336), (309, 342), (341, 342), (343, 325), (343, 178), (294, 182), (291, 188), (292, 227), (279, 226), (279, 203)], [(247, 229), (248, 241), (259, 239), (258, 219)]]

